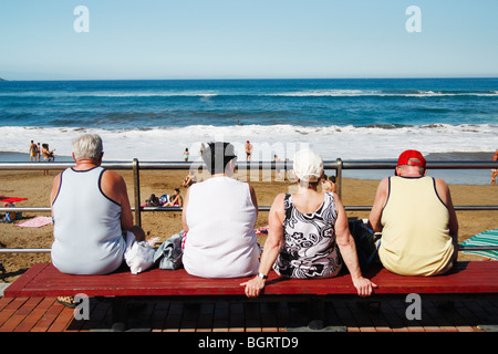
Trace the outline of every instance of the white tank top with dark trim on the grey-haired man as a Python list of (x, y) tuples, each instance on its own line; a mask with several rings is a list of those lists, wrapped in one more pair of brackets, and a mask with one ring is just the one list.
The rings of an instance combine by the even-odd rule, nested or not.
[(121, 206), (101, 189), (104, 168), (68, 168), (52, 204), (52, 263), (63, 273), (106, 274), (124, 260)]

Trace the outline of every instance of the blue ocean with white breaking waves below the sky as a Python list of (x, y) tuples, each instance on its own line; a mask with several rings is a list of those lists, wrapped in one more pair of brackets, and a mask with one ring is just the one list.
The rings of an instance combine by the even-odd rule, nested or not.
[[(105, 160), (183, 160), (186, 148), (196, 160), (212, 140), (232, 143), (239, 160), (246, 140), (252, 160), (292, 159), (302, 146), (325, 160), (395, 159), (407, 148), (428, 160), (490, 159), (497, 103), (498, 79), (4, 81), (0, 162), (29, 160), (31, 139), (66, 160), (85, 132), (103, 137)], [(477, 173), (467, 183), (489, 183)]]

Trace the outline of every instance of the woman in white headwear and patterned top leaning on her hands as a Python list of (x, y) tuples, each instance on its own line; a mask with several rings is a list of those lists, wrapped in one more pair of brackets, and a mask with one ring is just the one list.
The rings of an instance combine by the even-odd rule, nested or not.
[(376, 285), (361, 274), (344, 207), (335, 192), (318, 191), (322, 158), (311, 149), (301, 149), (294, 155), (293, 173), (298, 192), (274, 198), (258, 275), (241, 284), (246, 295), (259, 295), (272, 267), (282, 277), (330, 278), (339, 273), (342, 260), (359, 295), (370, 295)]

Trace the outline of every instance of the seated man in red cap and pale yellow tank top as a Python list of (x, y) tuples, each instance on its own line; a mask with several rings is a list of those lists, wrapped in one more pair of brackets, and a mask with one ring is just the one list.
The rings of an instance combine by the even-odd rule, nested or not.
[(370, 214), (372, 229), (382, 231), (381, 262), (397, 274), (443, 274), (457, 259), (458, 221), (449, 188), (426, 173), (419, 152), (401, 154), (395, 176), (378, 185)]

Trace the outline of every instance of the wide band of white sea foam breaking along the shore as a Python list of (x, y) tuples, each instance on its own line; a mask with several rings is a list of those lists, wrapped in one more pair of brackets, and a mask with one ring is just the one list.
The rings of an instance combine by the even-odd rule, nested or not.
[(201, 143), (226, 140), (236, 146), (239, 159), (245, 160), (243, 145), (253, 145), (253, 160), (292, 158), (301, 146), (317, 149), (325, 160), (390, 159), (401, 150), (415, 148), (430, 153), (494, 152), (498, 147), (497, 125), (445, 125), (406, 127), (303, 127), (292, 125), (209, 126), (193, 125), (180, 128), (86, 129), (48, 127), (2, 127), (0, 152), (27, 153), (29, 142), (49, 143), (56, 155), (70, 156), (71, 140), (82, 133), (100, 134), (104, 140), (106, 160), (181, 160), (189, 148), (190, 160), (198, 157)]

